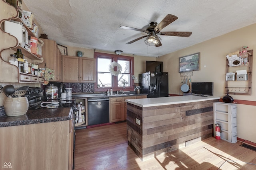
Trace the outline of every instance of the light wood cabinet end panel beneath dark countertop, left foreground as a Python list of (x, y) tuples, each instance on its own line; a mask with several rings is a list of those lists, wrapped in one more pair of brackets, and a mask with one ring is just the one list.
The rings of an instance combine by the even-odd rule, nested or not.
[(1, 166), (7, 162), (12, 170), (71, 170), (71, 121), (0, 127)]

